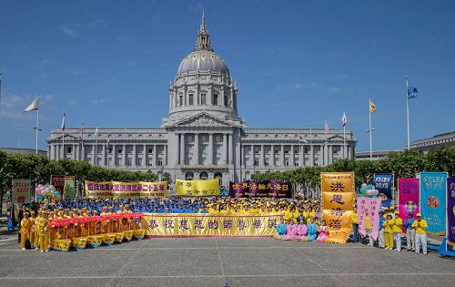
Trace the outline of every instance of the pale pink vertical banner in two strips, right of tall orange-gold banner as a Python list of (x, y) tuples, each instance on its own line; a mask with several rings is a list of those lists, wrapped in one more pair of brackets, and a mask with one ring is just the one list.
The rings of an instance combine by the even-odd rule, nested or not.
[(357, 210), (359, 212), (359, 233), (362, 237), (367, 235), (367, 213), (371, 226), (371, 237), (376, 241), (379, 235), (379, 210), (381, 199), (377, 198), (357, 198)]

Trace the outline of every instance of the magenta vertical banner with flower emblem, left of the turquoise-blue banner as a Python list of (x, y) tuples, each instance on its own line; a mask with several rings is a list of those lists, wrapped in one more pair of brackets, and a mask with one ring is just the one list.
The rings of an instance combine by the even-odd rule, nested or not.
[[(408, 214), (416, 218), (419, 213), (420, 179), (399, 179), (399, 217), (404, 221)], [(403, 231), (406, 231), (403, 228)]]

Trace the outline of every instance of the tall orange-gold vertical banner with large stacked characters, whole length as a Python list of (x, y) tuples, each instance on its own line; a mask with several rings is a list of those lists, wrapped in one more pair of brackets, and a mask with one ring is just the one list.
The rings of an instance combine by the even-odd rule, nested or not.
[(329, 230), (327, 242), (346, 243), (354, 209), (354, 172), (322, 172), (322, 220)]

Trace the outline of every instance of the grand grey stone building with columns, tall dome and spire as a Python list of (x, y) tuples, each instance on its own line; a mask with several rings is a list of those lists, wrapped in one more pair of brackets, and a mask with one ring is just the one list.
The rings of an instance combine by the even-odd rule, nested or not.
[(197, 32), (169, 87), (169, 112), (159, 128), (66, 128), (47, 138), (49, 159), (85, 160), (110, 169), (151, 170), (173, 179), (249, 179), (261, 171), (325, 166), (353, 159), (352, 132), (324, 128), (248, 128), (238, 118), (238, 87), (226, 61)]

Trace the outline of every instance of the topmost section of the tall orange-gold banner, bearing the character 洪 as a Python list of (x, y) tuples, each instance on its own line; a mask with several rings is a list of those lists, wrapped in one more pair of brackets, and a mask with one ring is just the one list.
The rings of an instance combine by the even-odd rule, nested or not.
[(321, 172), (322, 192), (354, 192), (354, 172)]

